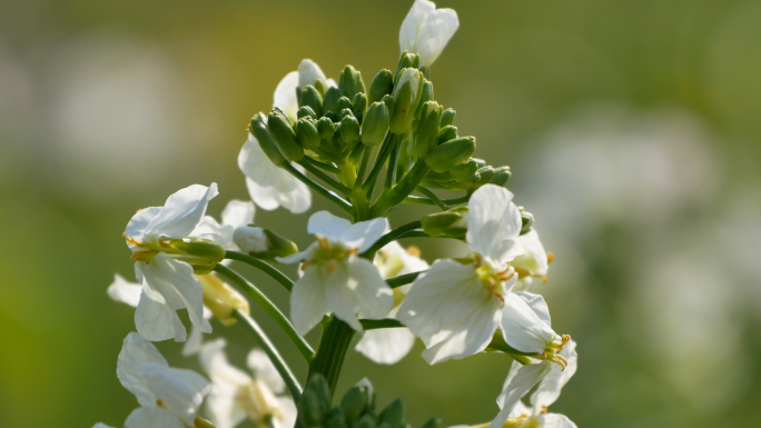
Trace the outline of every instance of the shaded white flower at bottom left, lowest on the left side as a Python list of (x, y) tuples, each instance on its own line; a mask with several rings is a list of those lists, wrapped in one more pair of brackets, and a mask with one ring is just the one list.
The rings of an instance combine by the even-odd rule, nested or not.
[(142, 407), (127, 418), (128, 428), (192, 426), (209, 392), (209, 382), (202, 376), (169, 367), (156, 346), (136, 332), (125, 339), (117, 377)]

